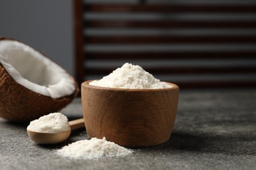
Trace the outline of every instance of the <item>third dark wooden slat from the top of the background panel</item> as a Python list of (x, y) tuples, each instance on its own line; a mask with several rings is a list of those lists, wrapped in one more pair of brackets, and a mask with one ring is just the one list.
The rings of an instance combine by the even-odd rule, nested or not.
[(157, 44), (157, 43), (243, 43), (256, 42), (256, 35), (251, 36), (87, 36), (88, 44)]

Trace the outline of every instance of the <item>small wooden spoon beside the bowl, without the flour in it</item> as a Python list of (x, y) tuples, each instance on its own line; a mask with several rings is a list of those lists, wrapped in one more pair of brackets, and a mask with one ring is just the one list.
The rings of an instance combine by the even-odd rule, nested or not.
[(60, 132), (60, 133), (45, 133), (45, 132), (38, 132), (38, 131), (30, 131), (28, 129), (27, 129), (27, 132), (30, 139), (35, 143), (39, 143), (39, 144), (61, 143), (66, 139), (68, 139), (72, 130), (85, 127), (85, 122), (83, 118), (72, 120), (68, 122), (68, 124), (70, 124), (71, 130)]

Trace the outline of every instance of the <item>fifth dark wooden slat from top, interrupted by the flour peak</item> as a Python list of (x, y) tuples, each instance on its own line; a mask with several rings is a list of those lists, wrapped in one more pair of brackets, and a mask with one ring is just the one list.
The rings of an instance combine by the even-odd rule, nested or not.
[[(85, 69), (85, 73), (89, 75), (102, 75), (111, 73), (115, 68), (87, 68)], [(149, 73), (155, 74), (223, 74), (223, 73), (256, 73), (255, 66), (247, 66), (247, 67), (144, 67), (144, 70), (148, 71)]]

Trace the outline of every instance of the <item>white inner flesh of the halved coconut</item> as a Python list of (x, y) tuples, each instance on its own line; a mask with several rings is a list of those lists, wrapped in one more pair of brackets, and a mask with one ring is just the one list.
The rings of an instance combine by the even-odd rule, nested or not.
[(30, 46), (18, 41), (0, 41), (0, 62), (20, 85), (52, 98), (71, 95), (74, 79), (62, 67)]

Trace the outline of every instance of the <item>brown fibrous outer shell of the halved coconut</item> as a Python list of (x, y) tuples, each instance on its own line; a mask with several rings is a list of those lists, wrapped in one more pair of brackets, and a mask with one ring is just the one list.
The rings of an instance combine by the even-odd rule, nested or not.
[(1, 118), (11, 122), (30, 122), (51, 112), (58, 112), (66, 107), (79, 92), (74, 78), (72, 76), (70, 78), (74, 81), (74, 93), (54, 99), (18, 84), (0, 63)]

